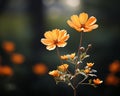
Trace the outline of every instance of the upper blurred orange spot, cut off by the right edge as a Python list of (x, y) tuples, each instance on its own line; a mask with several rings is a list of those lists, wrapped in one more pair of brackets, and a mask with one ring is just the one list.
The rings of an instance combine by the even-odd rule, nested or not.
[(120, 72), (120, 61), (116, 60), (110, 64), (109, 71), (112, 73)]

